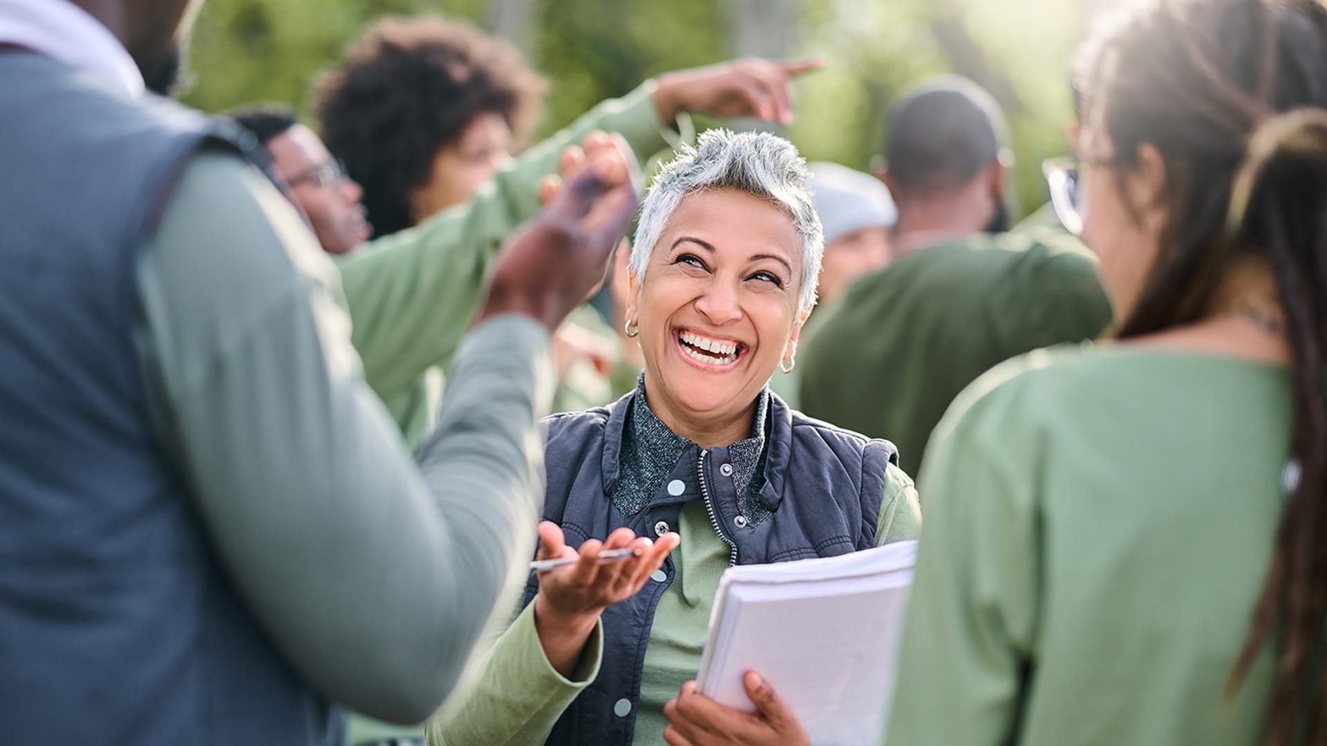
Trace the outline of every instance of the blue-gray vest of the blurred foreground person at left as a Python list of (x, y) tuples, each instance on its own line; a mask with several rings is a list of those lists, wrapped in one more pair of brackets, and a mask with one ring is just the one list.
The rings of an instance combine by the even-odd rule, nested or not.
[(147, 419), (139, 252), (204, 117), (0, 49), (0, 742), (332, 745)]

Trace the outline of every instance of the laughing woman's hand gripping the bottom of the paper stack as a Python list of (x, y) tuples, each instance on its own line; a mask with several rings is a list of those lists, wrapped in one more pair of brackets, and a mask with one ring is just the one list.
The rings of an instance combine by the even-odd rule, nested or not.
[(809, 746), (807, 731), (770, 682), (751, 670), (742, 685), (755, 713), (738, 711), (699, 694), (694, 681), (683, 684), (677, 700), (664, 705), (670, 723), (664, 741), (669, 746)]

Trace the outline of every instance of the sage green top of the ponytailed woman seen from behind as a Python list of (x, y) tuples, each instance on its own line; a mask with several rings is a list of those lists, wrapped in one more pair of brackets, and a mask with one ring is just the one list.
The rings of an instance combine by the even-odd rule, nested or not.
[(889, 746), (1250, 746), (1290, 435), (1285, 366), (1060, 348), (969, 388), (921, 471), (926, 524)]

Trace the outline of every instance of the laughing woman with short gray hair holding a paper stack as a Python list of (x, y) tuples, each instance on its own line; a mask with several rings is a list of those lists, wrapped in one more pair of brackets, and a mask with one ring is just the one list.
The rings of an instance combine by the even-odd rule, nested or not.
[[(656, 178), (626, 304), (645, 373), (606, 408), (548, 421), (539, 556), (577, 563), (529, 580), (434, 746), (689, 743), (695, 711), (713, 734), (805, 742), (795, 721), (764, 717), (780, 706), (768, 688), (752, 692), (764, 715), (751, 718), (687, 682), (730, 565), (921, 527), (892, 445), (808, 419), (767, 388), (795, 365), (815, 303), (824, 240), (807, 177), (787, 141), (714, 130)], [(638, 556), (600, 564), (612, 548)]]

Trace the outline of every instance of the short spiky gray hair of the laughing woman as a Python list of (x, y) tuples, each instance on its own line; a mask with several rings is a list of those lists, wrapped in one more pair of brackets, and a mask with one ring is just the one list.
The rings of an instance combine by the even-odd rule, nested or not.
[(792, 218), (802, 236), (802, 279), (798, 309), (805, 313), (816, 301), (824, 232), (807, 188), (809, 171), (798, 149), (770, 133), (709, 130), (695, 147), (685, 146), (650, 185), (641, 204), (641, 220), (632, 244), (630, 267), (645, 279), (654, 244), (664, 235), (682, 198), (711, 188), (734, 188), (767, 199)]

